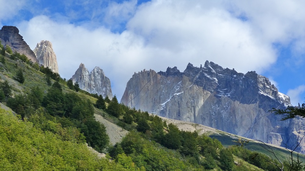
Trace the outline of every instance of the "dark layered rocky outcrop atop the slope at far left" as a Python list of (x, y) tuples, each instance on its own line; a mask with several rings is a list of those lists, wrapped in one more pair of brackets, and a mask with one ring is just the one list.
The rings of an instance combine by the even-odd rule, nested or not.
[(11, 49), (20, 54), (25, 54), (27, 58), (33, 62), (38, 62), (34, 52), (29, 45), (23, 40), (23, 37), (19, 34), (19, 30), (15, 26), (3, 26), (0, 30), (0, 40), (3, 45), (9, 45)]

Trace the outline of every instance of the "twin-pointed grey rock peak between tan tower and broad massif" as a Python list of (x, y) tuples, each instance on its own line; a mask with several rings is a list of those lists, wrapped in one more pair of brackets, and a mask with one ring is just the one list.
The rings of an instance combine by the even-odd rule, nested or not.
[(72, 76), (73, 82), (78, 82), (80, 89), (89, 93), (101, 94), (103, 97), (112, 98), (110, 79), (107, 78), (103, 70), (95, 67), (90, 73), (85, 65), (81, 63), (75, 74)]

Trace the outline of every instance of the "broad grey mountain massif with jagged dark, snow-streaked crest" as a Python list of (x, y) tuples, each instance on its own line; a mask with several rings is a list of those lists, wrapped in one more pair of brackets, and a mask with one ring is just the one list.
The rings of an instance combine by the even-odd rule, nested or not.
[[(268, 78), (209, 61), (199, 68), (189, 63), (184, 72), (168, 67), (166, 72), (135, 73), (120, 103), (278, 146), (293, 146), (298, 132), (304, 132), (304, 120), (278, 121), (281, 117), (269, 112), (285, 109), (290, 99)], [(305, 144), (298, 150), (304, 152)]]

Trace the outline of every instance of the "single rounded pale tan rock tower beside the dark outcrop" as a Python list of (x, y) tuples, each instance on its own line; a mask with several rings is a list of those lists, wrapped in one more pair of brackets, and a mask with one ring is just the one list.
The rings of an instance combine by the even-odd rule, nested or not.
[(33, 50), (39, 64), (49, 67), (53, 72), (58, 72), (56, 54), (53, 51), (52, 43), (48, 40), (41, 40)]

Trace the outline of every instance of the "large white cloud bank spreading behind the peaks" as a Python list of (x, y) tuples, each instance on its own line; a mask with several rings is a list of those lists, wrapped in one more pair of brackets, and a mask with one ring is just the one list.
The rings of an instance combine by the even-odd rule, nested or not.
[[(303, 47), (305, 23), (297, 22), (304, 21), (305, 15), (294, 17), (303, 11), (295, 2), (285, 6), (278, 1), (276, 5), (263, 1), (249, 5), (152, 0), (136, 6), (132, 0), (110, 3), (101, 11), (94, 8), (99, 12), (95, 15), (86, 13), (92, 21), (102, 17), (98, 20), (106, 25), (126, 22), (121, 33), (113, 33), (105, 23), (90, 28), (88, 23), (72, 24), (43, 15), (18, 28), (32, 49), (41, 40), (52, 42), (62, 77), (69, 79), (81, 62), (88, 70), (99, 66), (110, 78), (113, 94), (120, 98), (133, 73), (143, 69), (165, 71), (177, 66), (183, 71), (188, 62), (200, 66), (209, 60), (238, 72), (264, 71), (277, 60), (274, 43), (291, 44), (299, 37), (298, 48)], [(287, 10), (281, 11), (284, 7)]]

